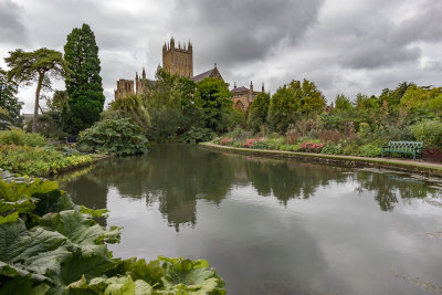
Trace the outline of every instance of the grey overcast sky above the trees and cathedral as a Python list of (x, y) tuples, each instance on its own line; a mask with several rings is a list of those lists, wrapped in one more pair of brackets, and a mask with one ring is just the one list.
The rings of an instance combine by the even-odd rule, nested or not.
[[(442, 85), (441, 18), (441, 0), (0, 0), (0, 66), (18, 48), (63, 51), (88, 23), (107, 103), (117, 80), (143, 66), (154, 77), (170, 36), (193, 43), (194, 74), (217, 63), (231, 85), (272, 93), (306, 77), (332, 102), (404, 81)], [(34, 88), (20, 88), (24, 113)]]

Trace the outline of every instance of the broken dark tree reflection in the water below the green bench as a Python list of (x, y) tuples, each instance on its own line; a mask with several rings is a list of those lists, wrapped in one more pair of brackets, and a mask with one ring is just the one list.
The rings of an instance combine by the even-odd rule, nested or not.
[(382, 211), (392, 211), (400, 199), (410, 201), (412, 198), (439, 194), (436, 189), (419, 179), (364, 170), (358, 171), (356, 178), (359, 183), (357, 190), (359, 192), (365, 190), (373, 192)]

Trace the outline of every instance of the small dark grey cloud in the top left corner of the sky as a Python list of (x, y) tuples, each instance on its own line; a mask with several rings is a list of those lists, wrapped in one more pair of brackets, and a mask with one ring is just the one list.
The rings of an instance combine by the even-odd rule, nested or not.
[(0, 0), (0, 41), (1, 43), (27, 43), (27, 28), (23, 24), (22, 10), (10, 0)]

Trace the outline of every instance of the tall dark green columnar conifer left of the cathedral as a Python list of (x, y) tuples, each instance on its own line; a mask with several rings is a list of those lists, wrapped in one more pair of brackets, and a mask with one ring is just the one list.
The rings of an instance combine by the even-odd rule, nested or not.
[(77, 134), (99, 119), (105, 101), (98, 46), (90, 25), (84, 23), (67, 35), (64, 59), (72, 73), (65, 81), (69, 105), (62, 117), (64, 129)]

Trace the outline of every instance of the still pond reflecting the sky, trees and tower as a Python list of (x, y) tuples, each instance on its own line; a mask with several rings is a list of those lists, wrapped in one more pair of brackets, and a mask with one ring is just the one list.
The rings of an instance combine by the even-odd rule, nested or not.
[(160, 145), (59, 179), (114, 256), (206, 259), (228, 294), (442, 294), (442, 185)]

